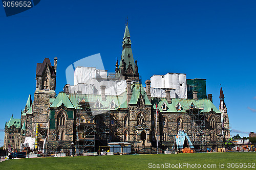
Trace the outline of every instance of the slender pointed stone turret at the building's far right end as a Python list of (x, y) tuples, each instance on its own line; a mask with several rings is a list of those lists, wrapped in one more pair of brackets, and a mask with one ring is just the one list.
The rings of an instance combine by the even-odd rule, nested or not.
[(220, 107), (219, 110), (221, 112), (221, 123), (222, 123), (222, 135), (223, 135), (223, 140), (227, 140), (230, 138), (230, 131), (229, 131), (229, 119), (228, 119), (228, 114), (227, 114), (227, 107), (224, 102), (224, 94), (222, 91), (220, 91)]

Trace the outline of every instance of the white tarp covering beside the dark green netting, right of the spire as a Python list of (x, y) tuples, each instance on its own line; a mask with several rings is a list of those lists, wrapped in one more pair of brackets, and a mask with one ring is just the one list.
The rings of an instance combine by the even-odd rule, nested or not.
[(185, 74), (167, 73), (151, 77), (151, 96), (165, 98), (165, 89), (170, 90), (170, 98), (187, 99)]

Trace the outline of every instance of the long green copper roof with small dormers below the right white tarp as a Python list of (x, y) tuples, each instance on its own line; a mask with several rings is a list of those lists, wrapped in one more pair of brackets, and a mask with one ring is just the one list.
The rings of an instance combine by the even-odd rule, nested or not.
[[(168, 104), (167, 100), (165, 98), (151, 98), (152, 99), (152, 104), (153, 108), (156, 109), (156, 102), (157, 102), (157, 108), (161, 112), (181, 112), (181, 113), (186, 113), (186, 110), (189, 109), (191, 106), (191, 103), (195, 105), (195, 108), (198, 109), (203, 109), (203, 112), (209, 112), (214, 110), (216, 113), (221, 113), (215, 106), (214, 104), (211, 103), (210, 100), (208, 99), (200, 99), (200, 100), (195, 100), (195, 99), (172, 99), (172, 104)], [(163, 103), (166, 103), (167, 105), (167, 110), (162, 110), (162, 105)], [(180, 103), (181, 105), (181, 111), (176, 110), (176, 106)]]

